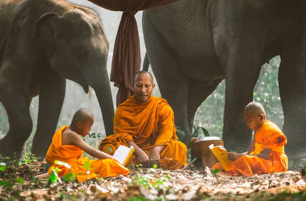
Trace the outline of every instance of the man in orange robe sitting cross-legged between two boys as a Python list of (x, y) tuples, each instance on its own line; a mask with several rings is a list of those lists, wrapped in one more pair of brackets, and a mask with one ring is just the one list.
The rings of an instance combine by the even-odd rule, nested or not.
[(177, 141), (174, 114), (168, 102), (151, 95), (155, 87), (152, 75), (138, 72), (133, 87), (135, 95), (120, 104), (115, 112), (114, 135), (102, 140), (99, 150), (113, 154), (119, 145), (132, 145), (135, 151), (130, 162), (134, 165), (184, 167), (187, 147)]

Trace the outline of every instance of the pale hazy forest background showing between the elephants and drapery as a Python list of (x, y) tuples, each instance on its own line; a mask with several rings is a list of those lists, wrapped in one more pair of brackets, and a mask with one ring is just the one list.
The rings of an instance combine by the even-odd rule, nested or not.
[[(107, 66), (108, 74), (110, 75), (114, 43), (122, 12), (108, 11), (86, 0), (74, 0), (69, 2), (81, 6), (95, 8), (94, 10), (98, 11), (98, 15), (102, 19), (102, 24), (110, 44), (108, 66)], [(145, 51), (143, 33), (142, 33), (142, 23), (141, 23), (142, 12), (138, 12), (135, 17), (138, 23), (141, 58), (143, 63), (143, 58), (146, 51)], [(283, 109), (278, 92), (278, 81), (277, 81), (278, 66), (279, 66), (279, 57), (273, 58), (270, 61), (270, 64), (265, 64), (263, 66), (260, 78), (254, 89), (254, 100), (259, 101), (264, 105), (267, 113), (267, 119), (270, 119), (271, 121), (273, 121), (279, 127), (282, 128), (284, 117), (283, 117)], [(141, 69), (142, 69), (142, 64), (141, 64)], [(149, 71), (151, 72), (151, 69), (149, 69)], [(113, 102), (115, 106), (116, 94), (118, 88), (114, 87), (113, 84), (114, 83), (111, 82)], [(158, 85), (156, 86), (155, 92), (153, 94), (155, 96), (160, 96)], [(225, 81), (223, 80), (216, 88), (216, 91), (198, 109), (196, 115), (196, 121), (201, 126), (207, 128), (211, 136), (221, 137), (222, 135), (224, 98), (225, 98)], [(77, 83), (74, 83), (69, 80), (67, 81), (66, 97), (61, 111), (57, 129), (62, 125), (69, 125), (74, 112), (82, 107), (90, 109), (95, 116), (95, 123), (92, 126), (91, 132), (100, 133), (101, 137), (105, 137), (103, 119), (94, 91), (92, 94), (92, 98), (90, 100), (88, 98), (88, 94), (85, 94), (82, 87), (80, 87)], [(37, 125), (38, 97), (33, 99), (30, 108), (31, 108), (31, 116), (33, 119), (33, 131), (32, 131), (32, 137), (33, 137)], [(0, 138), (3, 137), (7, 133), (7, 131), (8, 131), (7, 116), (3, 106), (0, 104)], [(30, 143), (31, 141), (32, 139), (30, 138)]]

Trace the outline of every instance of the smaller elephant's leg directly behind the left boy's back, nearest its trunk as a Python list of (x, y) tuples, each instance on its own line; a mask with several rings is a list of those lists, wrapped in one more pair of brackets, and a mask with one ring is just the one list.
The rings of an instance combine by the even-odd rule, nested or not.
[(32, 153), (41, 159), (45, 158), (56, 131), (66, 89), (66, 79), (50, 74), (40, 87), (37, 129), (32, 145)]

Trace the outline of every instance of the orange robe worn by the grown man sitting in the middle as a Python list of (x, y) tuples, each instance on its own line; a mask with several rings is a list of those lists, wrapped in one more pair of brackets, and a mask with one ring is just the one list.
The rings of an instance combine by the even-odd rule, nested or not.
[[(114, 135), (102, 140), (99, 150), (113, 154), (119, 145), (127, 146), (130, 141), (148, 156), (155, 146), (165, 145), (160, 153), (162, 168), (179, 169), (187, 165), (187, 147), (177, 141), (173, 110), (162, 98), (151, 96), (147, 102), (139, 103), (131, 96), (120, 104), (114, 118)], [(132, 161), (138, 164), (135, 155)]]

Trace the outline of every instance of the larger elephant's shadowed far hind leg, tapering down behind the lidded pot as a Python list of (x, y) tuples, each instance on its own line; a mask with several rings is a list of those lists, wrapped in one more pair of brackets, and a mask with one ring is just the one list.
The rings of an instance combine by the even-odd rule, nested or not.
[[(195, 114), (198, 107), (207, 99), (207, 97), (213, 93), (222, 80), (215, 81), (213, 83), (203, 83), (194, 80), (189, 81), (188, 99), (187, 99), (187, 111), (188, 122), (190, 123), (195, 119)], [(190, 132), (192, 133), (193, 124), (189, 124)]]

